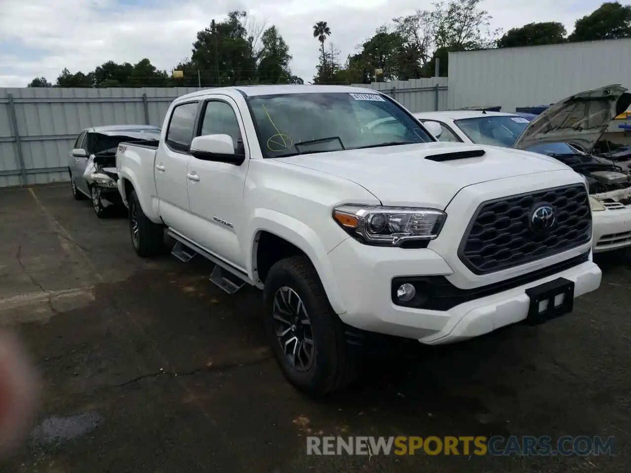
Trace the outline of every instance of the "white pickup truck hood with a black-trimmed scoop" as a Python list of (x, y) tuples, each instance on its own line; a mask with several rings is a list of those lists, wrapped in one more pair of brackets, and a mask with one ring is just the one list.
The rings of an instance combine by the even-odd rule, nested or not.
[[(466, 153), (482, 156), (466, 157)], [(449, 155), (449, 153), (458, 153)], [(449, 157), (442, 160), (440, 156)], [(459, 158), (459, 156), (465, 156)], [(274, 158), (345, 178), (389, 206), (444, 209), (460, 189), (489, 180), (569, 170), (554, 158), (511, 148), (434, 142)]]

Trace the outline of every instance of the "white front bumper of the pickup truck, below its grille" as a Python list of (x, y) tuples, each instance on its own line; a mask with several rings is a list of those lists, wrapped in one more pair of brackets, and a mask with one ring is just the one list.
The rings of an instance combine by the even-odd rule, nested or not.
[(591, 259), (517, 287), (454, 305), (447, 310), (401, 307), (392, 301), (391, 282), (401, 276), (449, 275), (452, 269), (429, 249), (369, 247), (348, 238), (329, 254), (346, 311), (341, 320), (357, 329), (445, 344), (477, 337), (528, 315), (526, 289), (565, 277), (574, 297), (597, 289), (601, 270)]

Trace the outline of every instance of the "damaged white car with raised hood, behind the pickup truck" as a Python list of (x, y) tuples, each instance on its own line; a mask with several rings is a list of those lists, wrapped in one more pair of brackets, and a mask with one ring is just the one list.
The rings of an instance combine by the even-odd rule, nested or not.
[(525, 149), (584, 175), (594, 219), (593, 250), (605, 252), (631, 247), (631, 173), (591, 151), (611, 120), (630, 104), (627, 89), (610, 85), (565, 98), (531, 122), (518, 114), (473, 110), (414, 115), (437, 127), (440, 141)]

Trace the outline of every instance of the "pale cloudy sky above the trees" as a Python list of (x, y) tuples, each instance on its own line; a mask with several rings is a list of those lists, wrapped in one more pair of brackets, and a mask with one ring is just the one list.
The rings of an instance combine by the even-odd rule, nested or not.
[[(531, 21), (574, 21), (603, 0), (484, 0), (492, 28)], [(318, 46), (311, 26), (331, 27), (341, 57), (391, 18), (430, 9), (433, 0), (0, 0), (0, 87), (25, 87), (36, 76), (54, 83), (64, 67), (88, 72), (110, 59), (148, 57), (170, 70), (191, 54), (196, 32), (233, 9), (278, 27), (293, 55), (295, 74), (309, 81)], [(626, 3), (626, 2), (623, 2)]]

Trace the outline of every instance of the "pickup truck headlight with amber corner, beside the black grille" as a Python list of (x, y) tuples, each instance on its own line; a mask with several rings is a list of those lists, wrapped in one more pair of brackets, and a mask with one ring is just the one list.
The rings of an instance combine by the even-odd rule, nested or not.
[(396, 247), (438, 237), (447, 214), (437, 209), (346, 204), (333, 209), (333, 218), (362, 243)]

